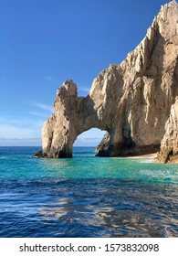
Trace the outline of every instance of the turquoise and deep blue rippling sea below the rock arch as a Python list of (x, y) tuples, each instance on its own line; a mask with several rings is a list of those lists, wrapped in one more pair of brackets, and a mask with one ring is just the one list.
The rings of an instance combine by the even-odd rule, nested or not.
[(178, 164), (0, 147), (0, 237), (178, 237)]

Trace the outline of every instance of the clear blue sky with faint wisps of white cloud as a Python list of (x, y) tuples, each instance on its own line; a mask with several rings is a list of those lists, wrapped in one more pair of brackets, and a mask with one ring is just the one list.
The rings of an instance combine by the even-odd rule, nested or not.
[[(57, 88), (79, 95), (145, 36), (164, 0), (0, 0), (0, 145), (40, 145)], [(103, 133), (82, 133), (77, 145)]]

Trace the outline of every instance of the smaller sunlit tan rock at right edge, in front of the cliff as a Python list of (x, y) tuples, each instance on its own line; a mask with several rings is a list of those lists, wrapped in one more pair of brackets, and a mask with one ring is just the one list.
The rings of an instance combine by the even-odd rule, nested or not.
[(178, 163), (178, 97), (172, 105), (170, 117), (165, 124), (165, 131), (156, 162)]

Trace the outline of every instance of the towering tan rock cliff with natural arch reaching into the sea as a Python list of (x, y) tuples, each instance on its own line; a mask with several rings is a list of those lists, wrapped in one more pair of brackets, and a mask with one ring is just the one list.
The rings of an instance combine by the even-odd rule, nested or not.
[[(99, 156), (157, 152), (178, 96), (178, 5), (163, 5), (146, 37), (120, 65), (99, 73), (87, 97), (66, 80), (57, 91), (54, 114), (43, 125), (48, 157), (71, 157), (80, 133), (105, 130)], [(177, 140), (177, 137), (176, 137)]]

